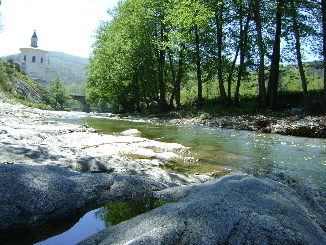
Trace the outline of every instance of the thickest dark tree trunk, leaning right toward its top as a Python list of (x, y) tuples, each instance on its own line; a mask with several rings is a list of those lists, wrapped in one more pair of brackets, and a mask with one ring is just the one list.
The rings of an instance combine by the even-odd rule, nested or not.
[(278, 89), (279, 67), (280, 67), (283, 7), (284, 7), (284, 1), (277, 0), (277, 8), (275, 14), (275, 20), (276, 20), (275, 39), (274, 39), (273, 53), (271, 58), (271, 68), (270, 68), (268, 84), (267, 84), (267, 95), (269, 98), (269, 108), (271, 110), (275, 110), (278, 106), (277, 89)]

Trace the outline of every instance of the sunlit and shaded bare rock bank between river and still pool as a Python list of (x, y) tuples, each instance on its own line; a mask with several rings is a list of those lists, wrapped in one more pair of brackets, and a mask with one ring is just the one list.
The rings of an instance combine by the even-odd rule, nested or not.
[[(3, 94), (0, 100), (0, 231), (37, 225), (96, 202), (212, 179), (160, 168), (166, 159), (183, 158), (180, 153), (189, 147), (97, 134), (86, 124), (43, 119), (62, 112), (22, 106)], [(143, 159), (128, 157), (131, 153)]]

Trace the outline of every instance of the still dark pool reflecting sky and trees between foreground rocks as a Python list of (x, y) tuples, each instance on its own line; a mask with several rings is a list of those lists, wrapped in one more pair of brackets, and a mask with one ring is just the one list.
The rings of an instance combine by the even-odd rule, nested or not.
[[(91, 211), (48, 222), (41, 227), (0, 233), (1, 245), (74, 245), (99, 230), (173, 201), (143, 197), (120, 200)], [(50, 238), (49, 238), (50, 237)]]

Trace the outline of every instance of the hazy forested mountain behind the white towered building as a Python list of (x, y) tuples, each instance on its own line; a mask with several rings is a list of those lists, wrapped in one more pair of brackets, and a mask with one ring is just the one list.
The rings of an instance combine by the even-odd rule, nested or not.
[[(20, 54), (2, 56), (2, 60), (12, 58), (19, 62)], [(88, 58), (73, 56), (62, 52), (49, 51), (46, 57), (46, 64), (56, 69), (65, 85), (82, 84), (86, 80), (84, 67), (88, 64)]]

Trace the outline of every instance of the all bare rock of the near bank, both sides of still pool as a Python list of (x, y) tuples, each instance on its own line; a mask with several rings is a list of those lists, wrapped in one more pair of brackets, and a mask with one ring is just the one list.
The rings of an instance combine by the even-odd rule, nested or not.
[(284, 174), (232, 172), (218, 179), (172, 174), (162, 170), (167, 159), (183, 158), (181, 153), (191, 157), (191, 148), (130, 132), (98, 134), (87, 123), (44, 120), (75, 114), (22, 106), (1, 92), (0, 113), (2, 232), (56, 220), (96, 203), (155, 195), (178, 202), (80, 244), (326, 243), (324, 209), (300, 182)]

